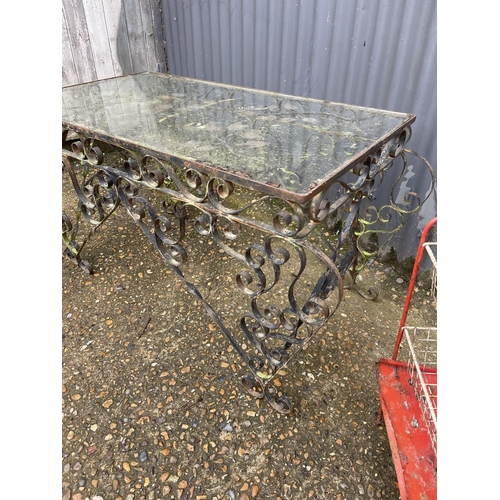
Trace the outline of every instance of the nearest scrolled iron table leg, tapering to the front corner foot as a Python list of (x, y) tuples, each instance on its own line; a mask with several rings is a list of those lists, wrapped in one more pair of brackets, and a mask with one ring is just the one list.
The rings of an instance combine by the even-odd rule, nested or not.
[[(116, 182), (119, 186), (120, 181), (117, 179)], [(155, 224), (160, 218), (159, 214), (146, 198), (138, 194), (130, 195), (130, 192), (133, 191), (129, 190), (128, 186), (127, 189), (118, 187), (121, 204), (127, 207), (129, 215), (183, 281), (187, 290), (203, 305), (212, 322), (218, 326), (239, 355), (243, 367), (249, 370), (249, 373), (241, 378), (243, 388), (252, 397), (265, 399), (279, 413), (289, 414), (293, 403), (273, 382), (279, 372), (305, 349), (313, 335), (337, 309), (342, 300), (342, 277), (351, 265), (356, 251), (352, 250), (341, 260), (340, 269), (308, 241), (294, 240), (279, 234), (266, 235), (262, 243), (247, 242), (245, 249), (237, 252), (220, 240), (220, 219), (223, 217), (196, 207), (201, 212), (197, 220), (209, 220), (209, 230), (200, 234), (211, 236), (229, 256), (246, 266), (244, 271), (236, 275), (234, 283), (246, 296), (249, 308), (239, 318), (239, 325), (230, 328), (216, 308), (181, 270), (188, 260), (184, 231), (178, 239), (166, 243), (165, 235)], [(182, 203), (175, 206), (176, 209), (171, 212), (178, 218), (177, 226), (185, 228), (187, 209), (194, 207)], [(150, 221), (149, 225), (146, 219)], [(156, 226), (157, 230), (152, 231), (151, 226)], [(295, 269), (293, 273), (288, 273), (287, 281), (283, 271), (292, 262), (293, 253)], [(300, 300), (297, 289), (299, 282), (307, 274), (307, 254), (316, 257), (327, 270), (317, 279), (309, 296)], [(275, 300), (280, 294), (276, 289), (280, 288), (280, 285), (283, 285), (281, 296), (285, 297), (285, 301), (278, 304)], [(330, 296), (335, 296), (334, 300), (330, 301), (333, 305), (328, 304)]]

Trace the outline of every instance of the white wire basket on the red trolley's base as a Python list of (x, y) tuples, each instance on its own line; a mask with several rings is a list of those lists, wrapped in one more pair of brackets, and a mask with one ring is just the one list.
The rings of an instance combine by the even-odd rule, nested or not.
[(427, 426), (432, 449), (437, 453), (437, 328), (403, 327), (409, 349), (408, 372)]

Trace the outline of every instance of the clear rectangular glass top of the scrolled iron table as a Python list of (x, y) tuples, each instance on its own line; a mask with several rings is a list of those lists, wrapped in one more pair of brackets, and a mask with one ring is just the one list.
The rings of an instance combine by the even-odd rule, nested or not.
[(301, 201), (414, 120), (161, 73), (62, 89), (65, 128)]

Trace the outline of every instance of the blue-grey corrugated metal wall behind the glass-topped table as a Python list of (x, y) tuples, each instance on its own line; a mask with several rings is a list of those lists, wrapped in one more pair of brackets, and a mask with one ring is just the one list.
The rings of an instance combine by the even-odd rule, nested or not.
[[(437, 170), (436, 0), (160, 1), (170, 73), (414, 113), (407, 146)], [(401, 260), (435, 215), (434, 195), (391, 240)]]

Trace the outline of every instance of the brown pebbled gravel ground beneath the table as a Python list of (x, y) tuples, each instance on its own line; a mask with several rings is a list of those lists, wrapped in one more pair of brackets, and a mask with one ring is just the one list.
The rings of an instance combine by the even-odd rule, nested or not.
[[(239, 269), (204, 244), (197, 279), (237, 318)], [(407, 275), (363, 270), (379, 297), (346, 290), (275, 380), (295, 405), (283, 416), (244, 392), (232, 347), (123, 210), (85, 258), (95, 274), (62, 261), (63, 499), (399, 498), (374, 364), (392, 354)], [(427, 321), (426, 287), (414, 304)]]

